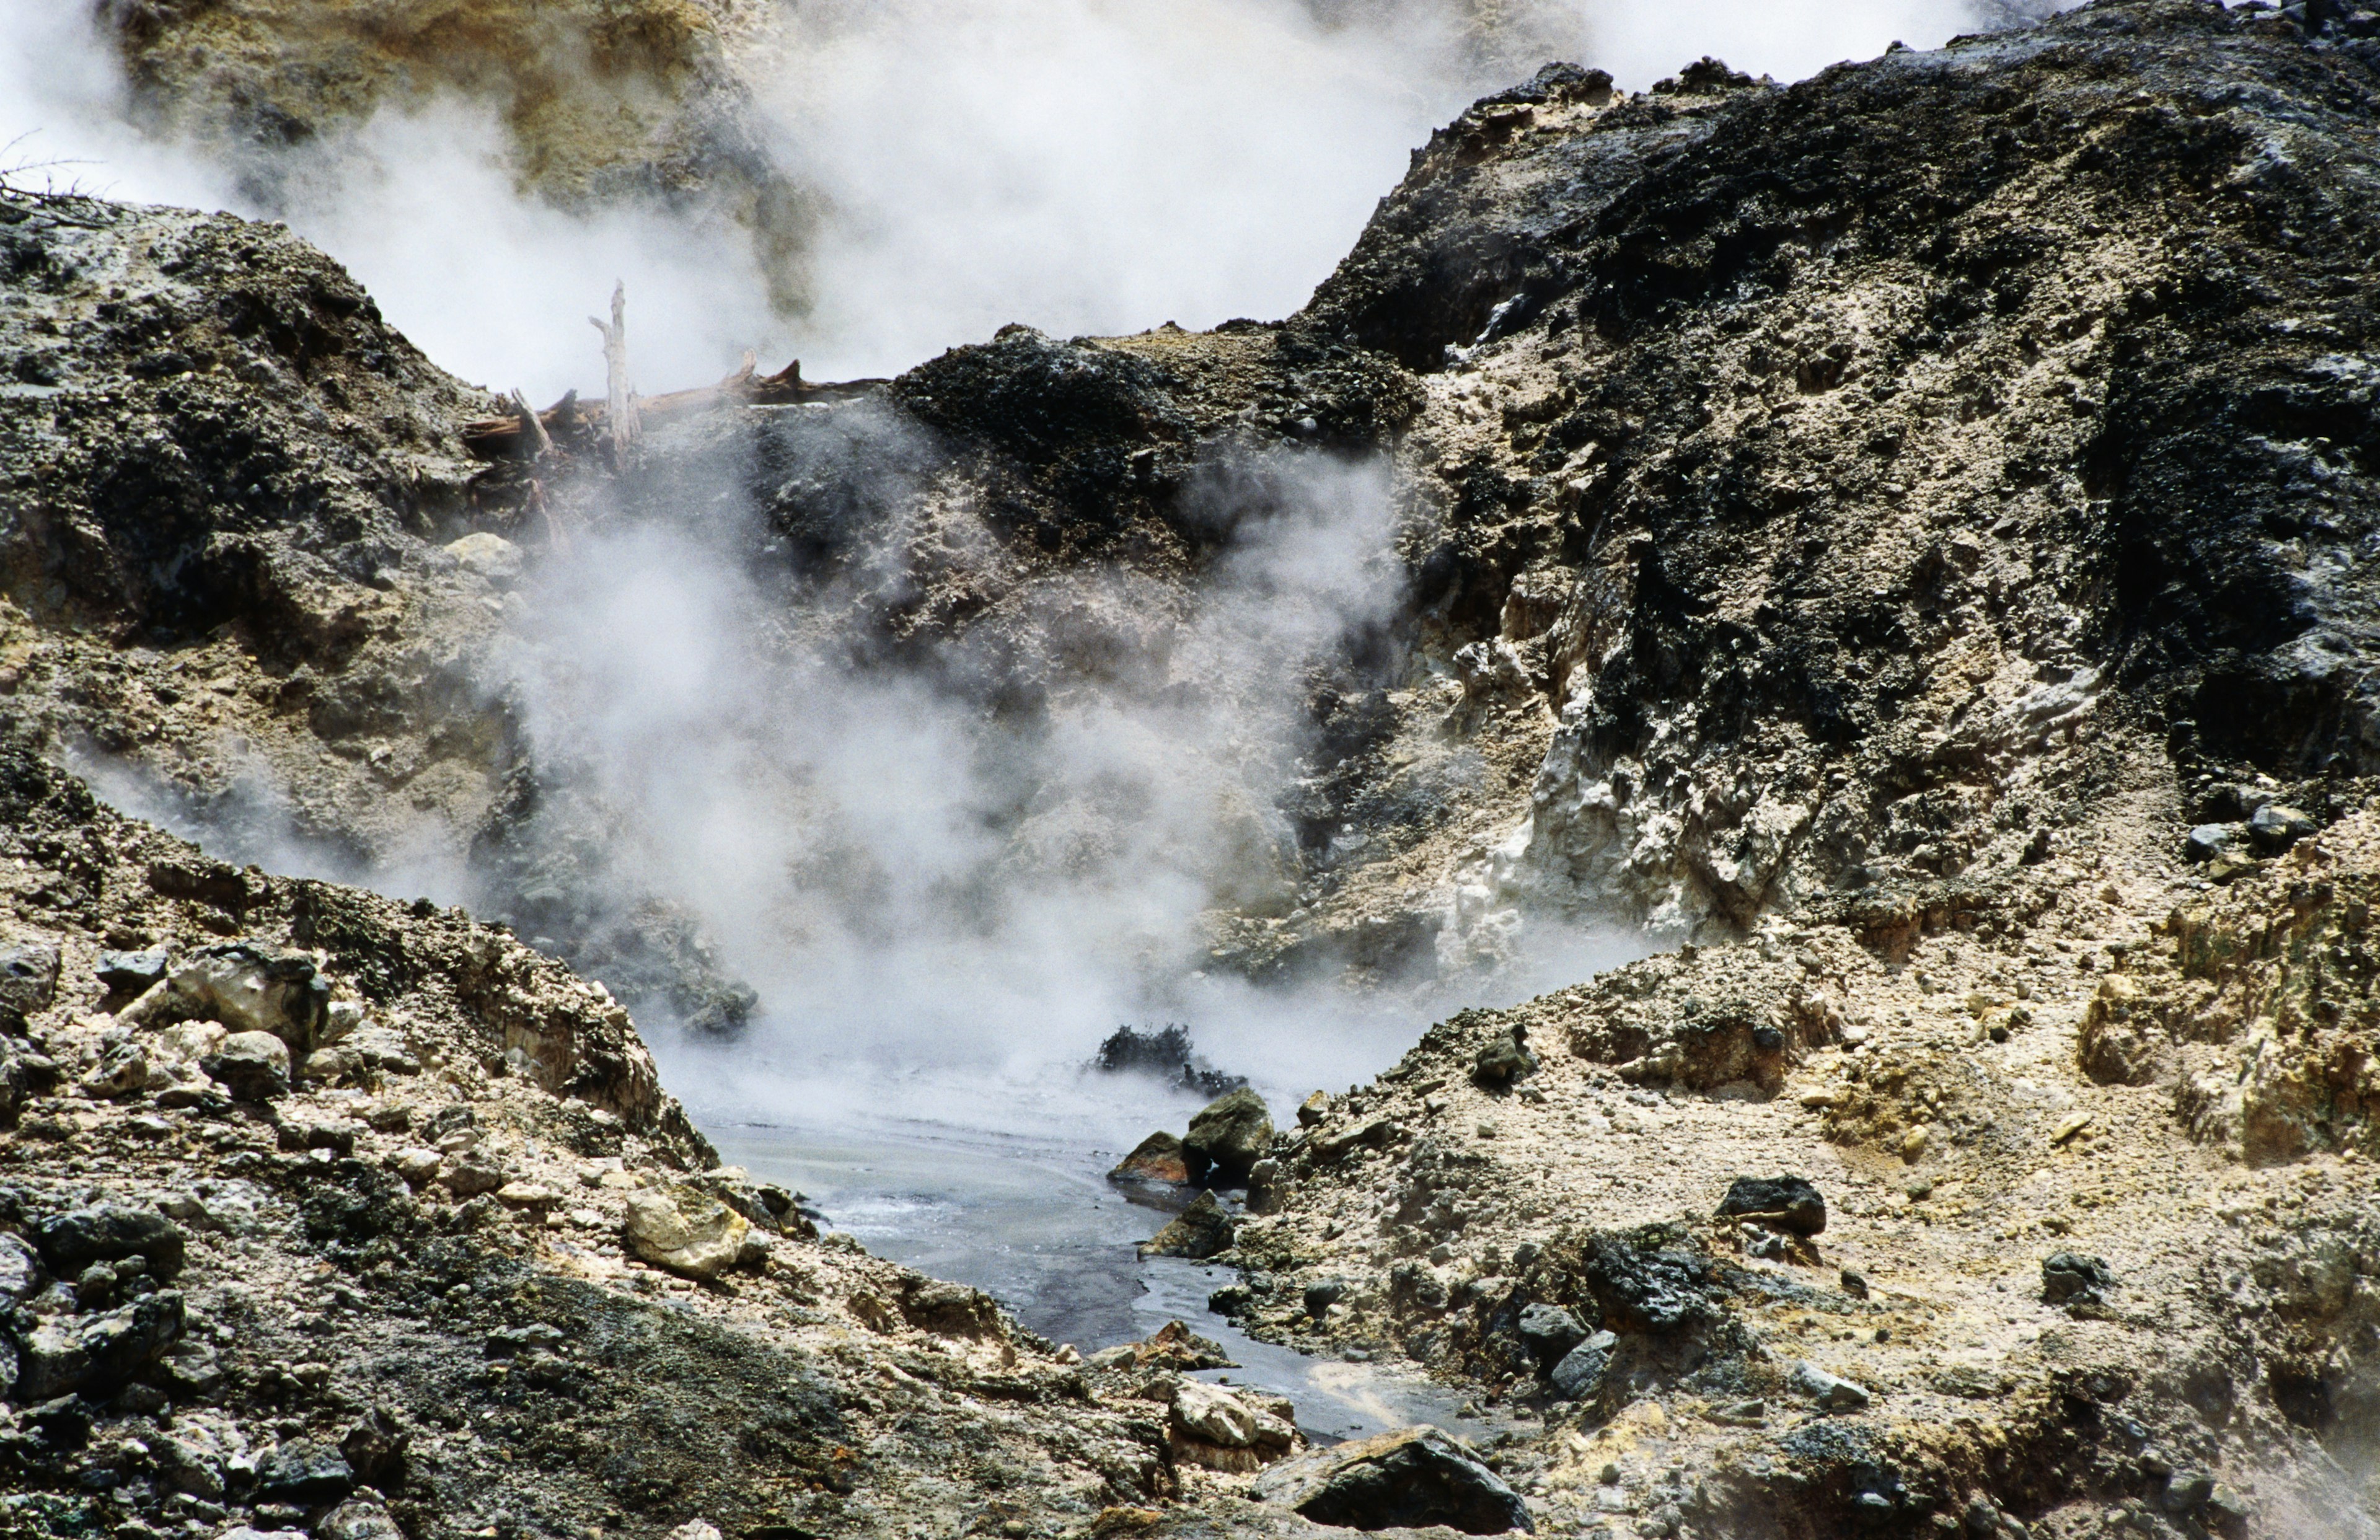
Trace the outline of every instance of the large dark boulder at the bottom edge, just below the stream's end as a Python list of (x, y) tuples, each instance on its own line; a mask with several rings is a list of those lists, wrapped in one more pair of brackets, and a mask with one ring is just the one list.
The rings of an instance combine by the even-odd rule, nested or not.
[(1257, 1478), (1254, 1497), (1342, 1528), (1535, 1533), (1521, 1495), (1438, 1428), (1397, 1428), (1285, 1459)]

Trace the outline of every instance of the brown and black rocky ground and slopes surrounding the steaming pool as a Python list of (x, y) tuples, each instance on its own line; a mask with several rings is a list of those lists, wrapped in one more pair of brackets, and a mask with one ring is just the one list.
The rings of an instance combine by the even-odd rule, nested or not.
[[(14, 1340), (86, 1376), (12, 1402), (10, 1521), (2370, 1533), (2375, 50), (2116, 0), (1792, 88), (1557, 67), (1290, 321), (1012, 328), (626, 462), (576, 407), (474, 457), (502, 405), (281, 231), (0, 200)], [(1361, 455), (1407, 600), (1299, 681), (1204, 962), (1454, 981), (1592, 907), (1676, 950), (1152, 1159), (1250, 1183), (1169, 1240), (1219, 1307), (1464, 1385), (1485, 1464), (1297, 1452), (1195, 1345), (1061, 1361), (709, 1169), (547, 954), (750, 997), (574, 885), (600, 797), (483, 671), (524, 566), (702, 486), (788, 655), (1054, 721), (1185, 636), (1219, 476)], [(357, 874), (428, 831), (538, 947), (60, 759)], [(321, 981), (288, 1090), (228, 943)], [(95, 971), (159, 945), (157, 995)], [(181, 1262), (74, 1240), (105, 1202)]]

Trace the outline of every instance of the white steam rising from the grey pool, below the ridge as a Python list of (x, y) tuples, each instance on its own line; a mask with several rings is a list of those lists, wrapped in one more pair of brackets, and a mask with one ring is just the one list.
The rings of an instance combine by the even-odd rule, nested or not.
[[(1000, 626), (1100, 659), (1040, 712), (990, 709), (995, 664), (964, 645), (852, 669), (847, 638), (800, 624), (838, 595), (788, 626), (690, 524), (581, 540), (507, 664), (531, 755), (626, 831), (605, 883), (697, 914), (793, 1057), (1085, 1059), (1183, 1004), (1216, 897), (1288, 902), (1304, 669), (1402, 597), (1378, 464), (1219, 467), (1192, 500), (1230, 528), (1195, 597), (1092, 571)], [(566, 805), (528, 843), (583, 824)]]

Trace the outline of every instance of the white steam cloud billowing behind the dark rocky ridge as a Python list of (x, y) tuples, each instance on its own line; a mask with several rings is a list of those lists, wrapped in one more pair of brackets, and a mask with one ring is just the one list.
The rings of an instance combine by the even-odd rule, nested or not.
[[(1407, 152), (1549, 57), (1649, 86), (1704, 52), (1797, 79), (1933, 45), (2006, 0), (843, 0), (738, 55), (809, 269), (702, 202), (564, 212), (488, 102), (388, 107), (238, 164), (159, 143), (88, 7), (0, 0), (0, 143), (117, 198), (288, 219), (445, 367), (540, 400), (593, 383), (590, 298), (638, 298), (638, 386), (745, 348), (812, 378), (897, 371), (1004, 321), (1116, 333), (1278, 317), (1352, 245)], [(802, 288), (804, 314), (771, 302)]]

